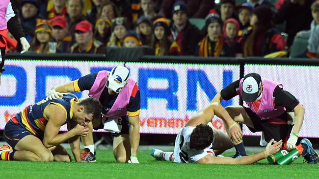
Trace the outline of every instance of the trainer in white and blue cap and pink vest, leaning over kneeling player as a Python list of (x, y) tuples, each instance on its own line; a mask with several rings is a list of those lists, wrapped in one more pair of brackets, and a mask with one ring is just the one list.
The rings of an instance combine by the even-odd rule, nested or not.
[[(88, 74), (75, 81), (54, 86), (48, 91), (48, 99), (62, 96), (61, 92), (84, 90), (88, 90), (89, 96), (99, 99), (101, 102), (103, 121), (120, 120), (120, 124), (122, 124), (122, 129), (118, 129), (120, 132), (112, 134), (114, 137), (113, 153), (116, 161), (123, 163), (130, 160), (131, 163), (138, 163), (136, 155), (139, 144), (140, 92), (136, 82), (130, 78), (130, 71), (126, 67), (117, 66), (113, 67), (111, 71)], [(101, 129), (103, 125), (101, 121), (100, 124), (93, 124), (93, 127)], [(85, 148), (89, 149), (86, 151), (90, 151), (90, 153), (85, 155), (95, 158), (93, 155), (92, 124), (89, 127), (91, 128), (89, 133), (91, 143), (84, 144)]]

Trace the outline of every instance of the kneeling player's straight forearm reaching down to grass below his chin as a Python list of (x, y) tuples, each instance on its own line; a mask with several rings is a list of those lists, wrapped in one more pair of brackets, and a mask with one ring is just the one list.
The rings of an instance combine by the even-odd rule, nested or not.
[[(73, 128), (75, 128), (75, 126), (77, 125), (77, 123), (75, 121), (70, 121), (67, 123), (67, 127), (68, 127), (68, 131), (72, 130)], [(71, 151), (72, 154), (75, 158), (75, 160), (77, 162), (81, 161), (81, 157), (80, 157), (80, 136), (79, 135), (75, 135), (73, 137), (71, 137), (69, 139), (69, 144), (71, 147)]]

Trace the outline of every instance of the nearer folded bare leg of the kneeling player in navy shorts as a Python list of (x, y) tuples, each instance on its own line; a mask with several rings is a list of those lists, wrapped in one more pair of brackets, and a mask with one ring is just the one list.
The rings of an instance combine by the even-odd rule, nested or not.
[(51, 151), (44, 147), (42, 141), (34, 135), (23, 137), (13, 151), (15, 151), (13, 156), (15, 160), (53, 161)]

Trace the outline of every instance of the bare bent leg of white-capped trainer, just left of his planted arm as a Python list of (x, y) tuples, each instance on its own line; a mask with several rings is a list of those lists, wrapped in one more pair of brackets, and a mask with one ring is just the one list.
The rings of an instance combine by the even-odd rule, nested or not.
[(113, 138), (113, 154), (117, 162), (128, 162), (131, 156), (129, 134), (119, 134)]

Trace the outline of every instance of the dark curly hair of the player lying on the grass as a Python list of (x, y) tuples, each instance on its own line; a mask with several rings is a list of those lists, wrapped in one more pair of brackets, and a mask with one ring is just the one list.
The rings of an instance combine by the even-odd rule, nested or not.
[(207, 124), (200, 124), (190, 134), (190, 148), (203, 150), (213, 142), (213, 129)]

